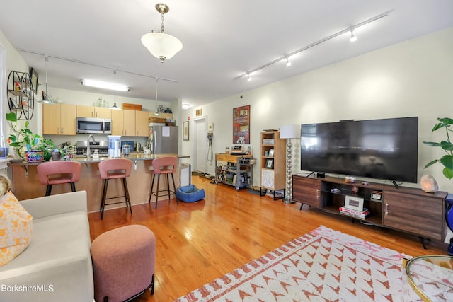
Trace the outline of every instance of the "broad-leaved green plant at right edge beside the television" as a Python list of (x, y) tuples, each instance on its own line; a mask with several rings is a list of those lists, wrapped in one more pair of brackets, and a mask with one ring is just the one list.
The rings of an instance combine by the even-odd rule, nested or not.
[(439, 123), (435, 124), (435, 126), (432, 128), (432, 132), (445, 128), (447, 141), (441, 141), (440, 143), (436, 143), (434, 141), (423, 141), (423, 144), (432, 147), (440, 147), (445, 151), (445, 155), (440, 159), (430, 161), (425, 165), (425, 168), (428, 168), (430, 165), (433, 165), (435, 163), (442, 163), (442, 165), (444, 166), (442, 173), (446, 178), (451, 180), (453, 178), (453, 144), (450, 140), (450, 132), (453, 132), (453, 129), (451, 128), (451, 125), (453, 125), (453, 119), (449, 117), (443, 117), (438, 118), (437, 120), (439, 121)]

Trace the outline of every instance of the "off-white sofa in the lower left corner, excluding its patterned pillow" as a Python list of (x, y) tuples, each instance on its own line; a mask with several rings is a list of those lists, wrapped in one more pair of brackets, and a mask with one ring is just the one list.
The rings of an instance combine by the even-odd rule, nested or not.
[(93, 302), (86, 192), (21, 202), (33, 216), (30, 245), (0, 267), (0, 301)]

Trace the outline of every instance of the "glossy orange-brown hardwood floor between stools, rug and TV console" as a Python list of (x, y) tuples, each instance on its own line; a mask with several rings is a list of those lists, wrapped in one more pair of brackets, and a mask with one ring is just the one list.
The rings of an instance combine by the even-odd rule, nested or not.
[(134, 301), (168, 302), (221, 277), (227, 272), (274, 250), (320, 225), (369, 240), (407, 255), (447, 254), (447, 244), (428, 241), (424, 250), (416, 236), (377, 226), (352, 223), (300, 204), (285, 204), (248, 190), (193, 176), (206, 197), (196, 203), (175, 199), (88, 214), (91, 240), (101, 233), (128, 224), (142, 224), (156, 235), (154, 295), (147, 291)]

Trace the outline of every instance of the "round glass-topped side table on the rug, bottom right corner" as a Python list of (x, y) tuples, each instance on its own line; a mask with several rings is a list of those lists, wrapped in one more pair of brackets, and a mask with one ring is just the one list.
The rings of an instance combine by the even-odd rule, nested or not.
[(426, 302), (453, 301), (453, 257), (428, 255), (404, 260), (407, 281)]

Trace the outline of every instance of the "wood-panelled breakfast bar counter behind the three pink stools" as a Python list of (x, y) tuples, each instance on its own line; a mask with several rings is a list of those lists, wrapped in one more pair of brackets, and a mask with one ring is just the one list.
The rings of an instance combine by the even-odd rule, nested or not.
[[(179, 162), (182, 158), (188, 158), (189, 156), (177, 155), (177, 154), (149, 154), (145, 155), (144, 153), (131, 153), (129, 158), (133, 161), (132, 173), (129, 178), (127, 178), (127, 187), (129, 189), (130, 199), (132, 205), (134, 204), (143, 204), (148, 202), (149, 199), (149, 190), (151, 186), (151, 170), (152, 170), (152, 160), (161, 156), (177, 156)], [(80, 180), (76, 182), (77, 191), (86, 191), (88, 194), (88, 211), (99, 211), (101, 207), (101, 196), (103, 190), (103, 180), (98, 169), (98, 163), (104, 161), (108, 157), (101, 157), (99, 159), (93, 158), (74, 158), (73, 161), (78, 161), (82, 163), (82, 171)], [(9, 173), (10, 177), (13, 180), (13, 193), (19, 200), (30, 199), (35, 197), (45, 196), (46, 186), (40, 184), (38, 177), (38, 170), (36, 167), (40, 163), (9, 163)], [(178, 187), (179, 180), (179, 169), (176, 169), (175, 182), (176, 187)], [(122, 195), (122, 184), (121, 180), (110, 180), (108, 186), (108, 195), (107, 197), (114, 197)], [(170, 178), (171, 182), (171, 178)], [(156, 183), (154, 184), (156, 186)], [(170, 183), (170, 186), (173, 185)], [(160, 182), (161, 190), (166, 188), (166, 181)], [(61, 194), (64, 192), (71, 192), (71, 186), (69, 184), (64, 185), (54, 185), (52, 186), (52, 195)], [(171, 197), (173, 198), (173, 196)], [(151, 202), (155, 202), (156, 197), (151, 198)], [(120, 199), (118, 199), (120, 201)], [(108, 206), (106, 209), (111, 209), (113, 207), (125, 207), (125, 204), (116, 204), (113, 206)]]

